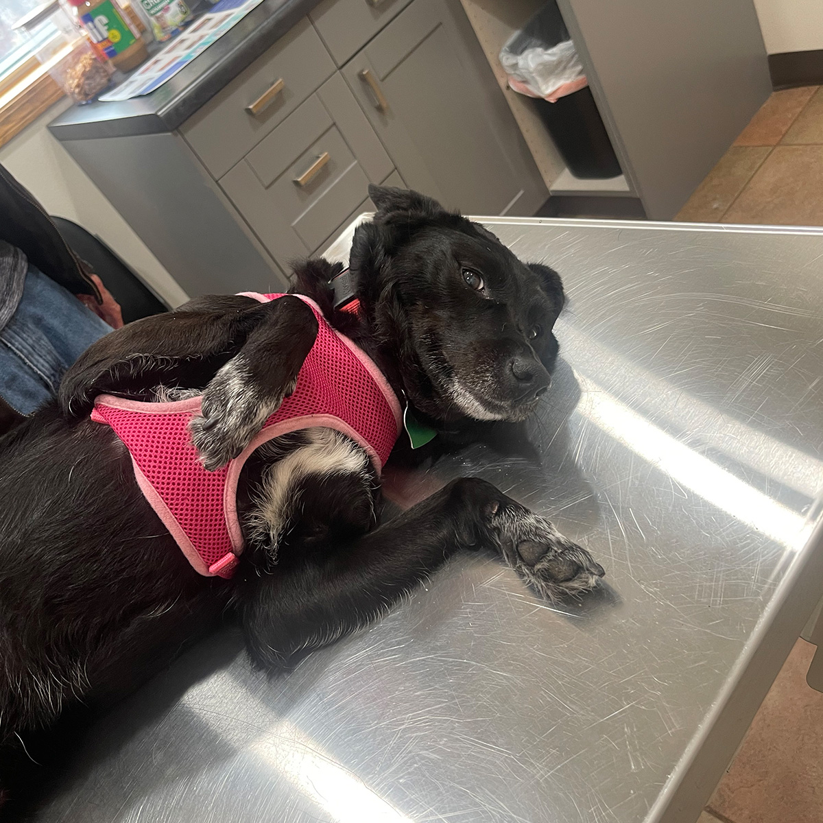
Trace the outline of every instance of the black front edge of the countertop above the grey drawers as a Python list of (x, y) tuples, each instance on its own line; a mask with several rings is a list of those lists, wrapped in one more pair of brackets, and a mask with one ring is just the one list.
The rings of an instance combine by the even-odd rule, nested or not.
[(58, 140), (174, 131), (319, 2), (263, 0), (220, 40), (150, 95), (121, 102), (73, 105), (49, 123), (49, 131)]

